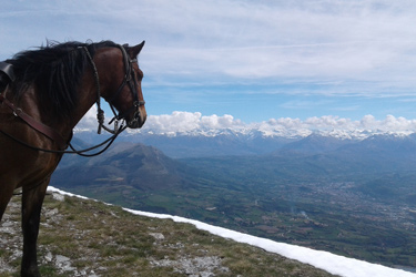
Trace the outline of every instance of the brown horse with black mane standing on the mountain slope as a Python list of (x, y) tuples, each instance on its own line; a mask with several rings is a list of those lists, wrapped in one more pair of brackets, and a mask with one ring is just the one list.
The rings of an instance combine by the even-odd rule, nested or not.
[(111, 41), (48, 43), (2, 63), (7, 66), (0, 68), (0, 220), (14, 189), (21, 187), (22, 276), (40, 276), (41, 206), (81, 117), (94, 103), (102, 112), (102, 96), (126, 126), (144, 124), (143, 73), (136, 62), (143, 45), (144, 41), (135, 47)]

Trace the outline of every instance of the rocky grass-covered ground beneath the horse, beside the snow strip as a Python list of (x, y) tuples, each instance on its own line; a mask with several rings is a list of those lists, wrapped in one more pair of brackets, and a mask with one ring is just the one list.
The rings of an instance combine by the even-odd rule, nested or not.
[[(0, 223), (0, 277), (19, 276), (20, 197)], [(170, 219), (51, 194), (39, 236), (43, 276), (331, 276)]]

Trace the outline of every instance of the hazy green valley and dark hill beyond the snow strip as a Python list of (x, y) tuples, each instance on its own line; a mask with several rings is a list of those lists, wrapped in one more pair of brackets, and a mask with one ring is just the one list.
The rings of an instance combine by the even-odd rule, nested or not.
[(415, 267), (413, 141), (336, 145), (313, 138), (266, 155), (183, 158), (120, 142), (98, 158), (64, 160), (52, 185), (124, 207)]

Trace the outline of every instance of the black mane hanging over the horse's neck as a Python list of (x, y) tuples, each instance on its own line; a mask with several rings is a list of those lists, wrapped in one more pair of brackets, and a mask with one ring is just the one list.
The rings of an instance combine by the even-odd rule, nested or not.
[(90, 61), (83, 48), (94, 55), (97, 49), (116, 47), (112, 41), (98, 43), (48, 41), (38, 50), (23, 51), (7, 62), (13, 64), (18, 101), (30, 85), (35, 85), (42, 109), (59, 119), (68, 117), (78, 101), (77, 91)]

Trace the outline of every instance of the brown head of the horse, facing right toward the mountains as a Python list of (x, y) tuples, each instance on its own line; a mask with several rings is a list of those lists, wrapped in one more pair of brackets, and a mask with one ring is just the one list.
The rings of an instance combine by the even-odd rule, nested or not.
[[(138, 55), (144, 41), (138, 45), (118, 45), (98, 50), (94, 62), (100, 75), (102, 96), (119, 111), (116, 120), (125, 120), (131, 129), (143, 126), (146, 120), (141, 81), (143, 72), (139, 69)], [(113, 58), (113, 59), (109, 59)]]

